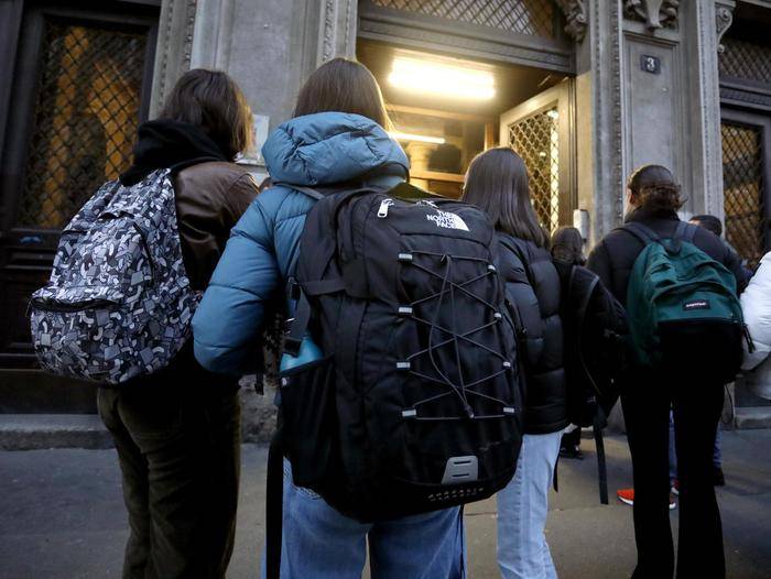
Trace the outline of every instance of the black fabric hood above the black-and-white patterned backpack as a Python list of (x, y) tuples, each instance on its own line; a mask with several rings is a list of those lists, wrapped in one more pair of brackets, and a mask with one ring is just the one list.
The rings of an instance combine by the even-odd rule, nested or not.
[(120, 182), (134, 185), (158, 168), (177, 172), (202, 161), (230, 160), (196, 124), (171, 119), (144, 122), (139, 128), (133, 163)]

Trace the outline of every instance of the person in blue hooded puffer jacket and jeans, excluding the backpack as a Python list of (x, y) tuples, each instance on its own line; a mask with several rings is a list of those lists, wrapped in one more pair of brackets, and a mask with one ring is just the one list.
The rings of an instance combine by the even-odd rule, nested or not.
[[(284, 299), (313, 199), (282, 184), (389, 189), (404, 181), (409, 161), (383, 127), (389, 120), (374, 77), (336, 58), (319, 67), (297, 98), (294, 118), (262, 148), (274, 183), (232, 230), (225, 254), (193, 320), (195, 354), (207, 369), (253, 370), (257, 340), (271, 301)], [(373, 578), (464, 577), (459, 509), (361, 524), (310, 489), (295, 487), (284, 462), (281, 577), (360, 577), (367, 555)]]

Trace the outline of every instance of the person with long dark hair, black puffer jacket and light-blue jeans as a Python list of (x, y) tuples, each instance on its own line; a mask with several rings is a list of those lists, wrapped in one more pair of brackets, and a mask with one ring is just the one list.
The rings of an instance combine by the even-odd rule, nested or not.
[(514, 478), (498, 493), (498, 565), (504, 579), (553, 579), (544, 527), (567, 426), (560, 276), (530, 201), (528, 170), (511, 149), (471, 161), (463, 199), (485, 209), (500, 233), (498, 269), (524, 354), (524, 436)]

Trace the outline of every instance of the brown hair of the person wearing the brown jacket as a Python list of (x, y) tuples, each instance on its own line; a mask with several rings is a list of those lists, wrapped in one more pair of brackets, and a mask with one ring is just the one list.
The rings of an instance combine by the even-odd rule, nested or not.
[(159, 118), (200, 127), (230, 160), (252, 146), (249, 103), (236, 81), (219, 70), (194, 68), (182, 75)]

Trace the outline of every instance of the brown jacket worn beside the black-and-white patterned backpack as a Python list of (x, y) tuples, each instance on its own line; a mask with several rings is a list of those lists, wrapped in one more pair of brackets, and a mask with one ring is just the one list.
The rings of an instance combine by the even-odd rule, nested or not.
[(174, 190), (185, 269), (193, 288), (205, 290), (257, 184), (235, 163), (209, 162), (182, 170)]

